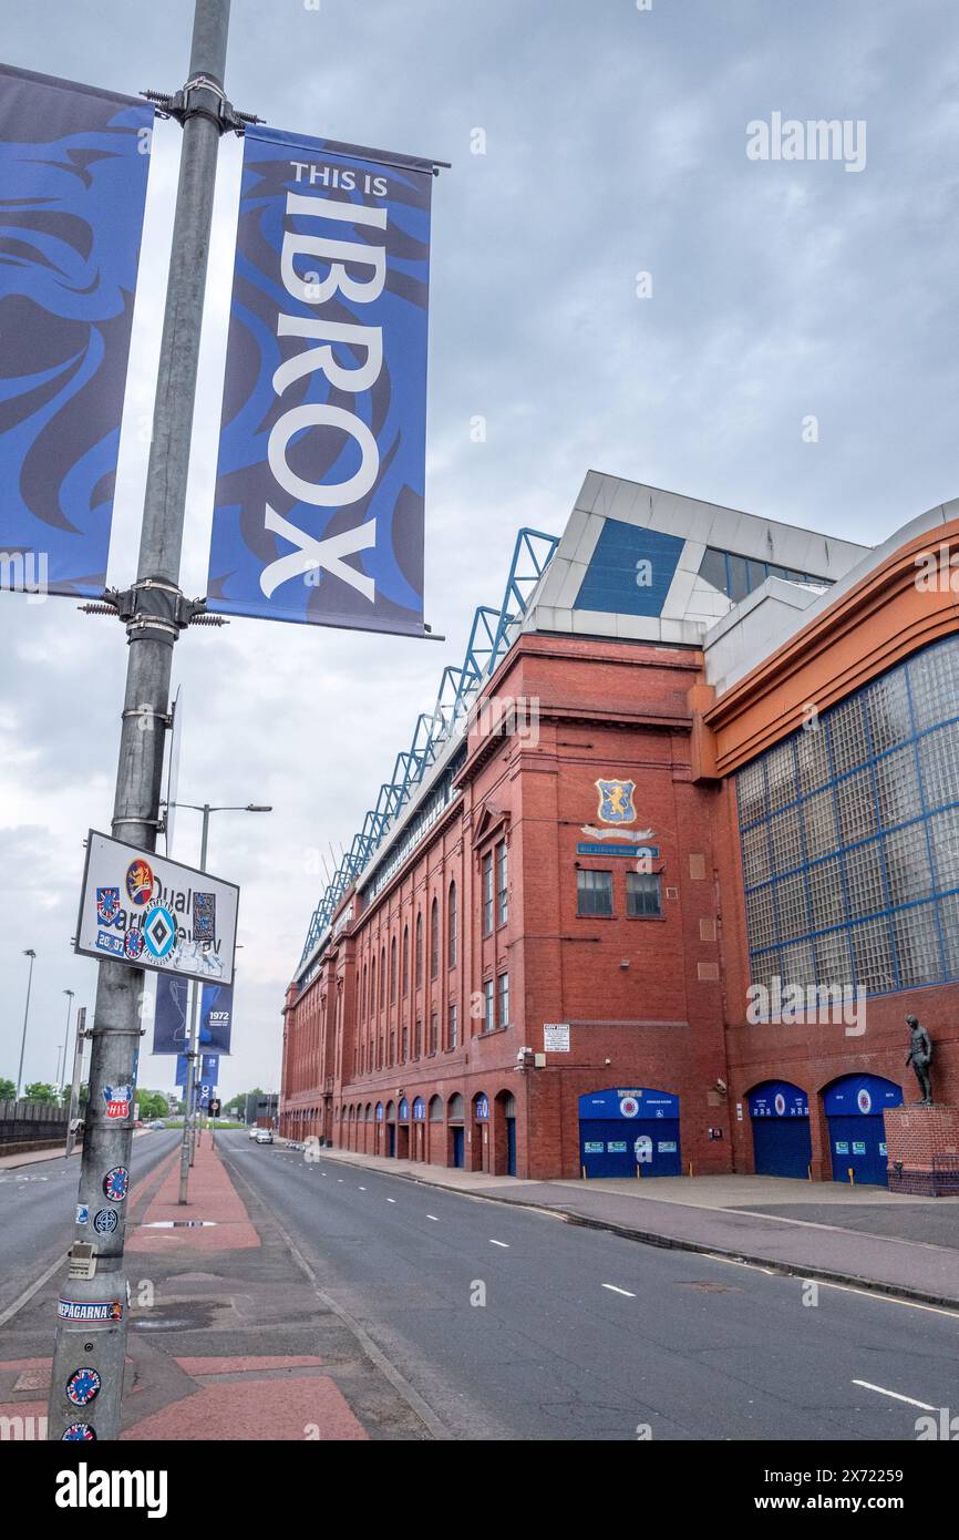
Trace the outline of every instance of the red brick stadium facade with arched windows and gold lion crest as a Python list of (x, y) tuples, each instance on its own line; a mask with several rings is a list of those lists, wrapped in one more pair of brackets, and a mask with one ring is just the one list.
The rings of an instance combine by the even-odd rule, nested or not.
[[(703, 505), (688, 507), (690, 528), (697, 528)], [(727, 511), (714, 513), (719, 519)], [(674, 524), (676, 517), (671, 507)], [(728, 514), (727, 522), (734, 519), (748, 516)], [(610, 522), (605, 511), (600, 522)], [(931, 516), (927, 522), (934, 524)], [(737, 527), (727, 550), (747, 539), (759, 542), (760, 533), (765, 550), (770, 530), (780, 542), (805, 536), (754, 524), (767, 533), (743, 534)], [(959, 542), (954, 514), (942, 527)], [(719, 544), (716, 528), (717, 521), (713, 541)], [(579, 528), (568, 530), (560, 557), (573, 536), (582, 544)], [(707, 542), (685, 537), (682, 559), (693, 547), (699, 564)], [(730, 621), (717, 631), (700, 621), (680, 630), (660, 618), (640, 618), (630, 631), (617, 616), (606, 634), (574, 634), (573, 611), (531, 608), (533, 619), (483, 682), (483, 699), (536, 702), (537, 721), (523, 732), (500, 733), (496, 715), (482, 710), (482, 702), (474, 707), (442, 775), (343, 893), (325, 938), (288, 989), (282, 1132), (491, 1173), (579, 1177), (583, 1150), (603, 1147), (588, 1141), (580, 1098), (608, 1093), (628, 1118), (637, 1112), (634, 1093), (642, 1101), (651, 1090), (679, 1098), (677, 1146), (659, 1146), (677, 1149), (676, 1169), (750, 1172), (759, 1164), (754, 1140), (762, 1133), (753, 1116), (762, 1106), (754, 1098), (765, 1086), (785, 1084), (799, 1098), (790, 1110), (802, 1113), (800, 1100), (808, 1103), (805, 1116), (796, 1120), (805, 1133), (808, 1116), (810, 1146), (797, 1157), (796, 1173), (828, 1180), (844, 1160), (830, 1153), (833, 1135), (833, 1150), (847, 1147), (839, 1140), (845, 1129), (839, 1103), (828, 1100), (836, 1087), (847, 1080), (859, 1087), (859, 1112), (868, 1107), (867, 1086), (873, 1096), (876, 1087), (891, 1087), (890, 1106), (916, 1100), (911, 1070), (904, 1066), (907, 1010), (922, 1016), (936, 1043), (936, 1101), (957, 1100), (959, 986), (953, 979), (959, 978), (959, 930), (953, 938), (948, 926), (953, 913), (959, 926), (959, 872), (954, 884), (936, 876), (936, 893), (933, 893), (936, 904), (919, 902), (922, 892), (902, 902), (890, 898), (893, 878), (901, 878), (893, 850), (904, 849), (910, 833), (899, 827), (910, 815), (897, 815), (899, 825), (890, 825), (890, 835), (879, 829), (873, 841), (885, 882), (882, 916), (868, 918), (865, 910), (860, 922), (854, 906), (865, 899), (847, 881), (847, 867), (860, 872), (865, 858), (871, 859), (870, 835), (836, 856), (825, 852), (824, 861), (834, 859), (842, 872), (845, 909), (824, 922), (811, 906), (831, 867), (819, 869), (804, 845), (796, 872), (768, 876), (770, 892), (779, 895), (768, 902), (779, 924), (770, 939), (747, 921), (747, 912), (764, 912), (767, 875), (743, 870), (742, 841), (756, 830), (767, 839), (762, 816), (776, 822), (780, 815), (767, 807), (750, 825), (743, 815), (748, 782), (740, 778), (739, 790), (736, 784), (743, 770), (759, 773), (750, 767), (762, 767), (764, 756), (784, 744), (797, 764), (802, 745), (793, 745), (810, 702), (825, 711), (857, 701), (902, 659), (959, 633), (954, 598), (936, 602), (917, 594), (911, 581), (921, 542), (930, 544), (928, 531), (890, 542), (888, 554), (887, 547), (867, 553), (859, 565), (860, 551), (850, 548), (844, 557), (848, 579), (842, 567), (827, 571), (824, 561), (824, 588), (816, 593), (802, 587), (802, 571), (779, 579), (767, 562), (759, 599), (753, 593), (739, 607), (727, 605)], [(656, 556), (662, 559), (659, 545)], [(748, 551), (747, 557), (753, 561)], [(728, 562), (739, 557), (725, 561), (728, 571)], [(811, 556), (796, 565), (820, 570)], [(705, 567), (703, 556), (699, 570)], [(557, 559), (554, 568), (556, 582), (566, 581)], [(679, 591), (680, 579), (682, 562), (670, 594)], [(782, 645), (765, 647), (751, 668), (730, 673), (728, 638), (740, 611), (756, 613), (759, 601), (768, 601), (764, 616), (779, 614), (780, 601), (788, 610), (790, 582), (810, 618), (791, 621)], [(825, 584), (834, 588), (825, 591)], [(690, 588), (687, 582), (687, 614), (694, 602), (707, 604), (690, 601)], [(668, 616), (667, 604), (662, 616)], [(605, 625), (599, 605), (588, 624)], [(748, 616), (747, 624), (753, 624)], [(765, 619), (764, 627), (765, 636)], [(616, 630), (627, 634), (608, 634)], [(905, 682), (902, 691), (905, 698)], [(873, 705), (856, 710), (879, 721)], [(959, 718), (959, 698), (953, 715)], [(927, 732), (916, 721), (910, 716), (913, 736)], [(833, 739), (837, 753), (839, 722), (830, 727)], [(916, 738), (908, 752), (921, 756), (925, 742)], [(867, 773), (870, 795), (876, 787), (882, 792), (899, 750), (884, 758), (885, 745), (876, 745), (867, 768), (848, 775), (830, 755), (837, 790), (830, 782), (816, 792), (814, 808), (802, 799), (796, 804), (796, 822), (810, 838), (813, 812), (819, 818), (824, 799), (839, 796), (845, 808), (850, 787), (859, 787)], [(771, 788), (773, 768), (762, 768), (762, 776)], [(779, 830), (768, 838), (776, 841)], [(648, 852), (645, 862), (637, 864), (630, 839)], [(811, 896), (804, 898), (805, 919), (788, 932), (787, 884), (794, 893), (800, 881)], [(907, 899), (911, 907), (902, 907)], [(934, 910), (931, 918), (925, 907)], [(933, 921), (937, 927), (939, 962), (927, 964), (925, 973), (919, 962), (910, 964), (921, 921), (928, 935)], [(890, 952), (876, 961), (884, 927)], [(811, 1016), (793, 1026), (750, 1024), (750, 978), (782, 969), (788, 983), (790, 969), (800, 979), (800, 967), (808, 966), (819, 967), (822, 979), (824, 956), (848, 958), (848, 978), (868, 978), (862, 1035)], [(848, 983), (845, 966), (836, 964), (842, 983)], [(566, 1030), (557, 1040), (548, 1024)], [(856, 1081), (857, 1075), (867, 1078)], [(773, 1100), (779, 1104), (779, 1092)], [(606, 1135), (617, 1132), (602, 1127)], [(857, 1147), (856, 1132), (850, 1149)], [(627, 1124), (623, 1133), (630, 1133)], [(610, 1140), (608, 1149), (627, 1150), (627, 1140)], [(630, 1140), (630, 1164), (631, 1149)], [(759, 1169), (788, 1173), (776, 1164)]]

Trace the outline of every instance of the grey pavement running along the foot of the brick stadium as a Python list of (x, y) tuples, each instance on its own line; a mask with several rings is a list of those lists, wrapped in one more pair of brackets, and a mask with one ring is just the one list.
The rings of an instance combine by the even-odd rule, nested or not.
[(337, 1149), (323, 1158), (545, 1209), (651, 1246), (959, 1309), (959, 1198), (780, 1177), (525, 1181)]

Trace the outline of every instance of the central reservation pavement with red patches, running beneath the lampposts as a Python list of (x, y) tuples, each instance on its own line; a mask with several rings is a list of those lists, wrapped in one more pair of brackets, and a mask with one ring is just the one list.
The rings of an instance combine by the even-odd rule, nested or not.
[[(268, 1209), (240, 1197), (208, 1135), (188, 1204), (177, 1203), (179, 1149), (139, 1184), (132, 1175), (123, 1440), (429, 1437)], [(54, 1266), (0, 1326), (0, 1418), (46, 1412), (60, 1280)]]

